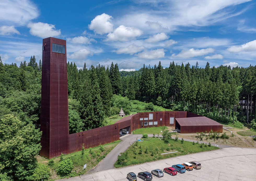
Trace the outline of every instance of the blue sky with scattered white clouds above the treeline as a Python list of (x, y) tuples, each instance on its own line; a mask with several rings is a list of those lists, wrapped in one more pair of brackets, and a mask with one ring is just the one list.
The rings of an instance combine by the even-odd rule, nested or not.
[(78, 67), (247, 67), (255, 65), (255, 7), (250, 0), (0, 0), (0, 55), (4, 63), (31, 55), (38, 62), (51, 36), (67, 40), (67, 61)]

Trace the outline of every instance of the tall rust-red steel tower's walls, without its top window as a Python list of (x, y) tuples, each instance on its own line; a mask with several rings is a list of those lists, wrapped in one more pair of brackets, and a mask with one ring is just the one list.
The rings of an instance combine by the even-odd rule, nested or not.
[(66, 52), (66, 40), (43, 39), (40, 155), (48, 158), (68, 153), (69, 136), (67, 56), (52, 52), (52, 43), (65, 45)]

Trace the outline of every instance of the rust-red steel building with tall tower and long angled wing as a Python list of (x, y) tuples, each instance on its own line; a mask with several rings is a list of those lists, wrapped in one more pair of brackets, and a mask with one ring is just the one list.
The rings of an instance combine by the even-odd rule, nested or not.
[(187, 111), (137, 113), (112, 125), (69, 134), (66, 40), (43, 39), (42, 61), (41, 156), (53, 158), (80, 151), (83, 143), (85, 148), (110, 143), (119, 140), (123, 129), (131, 133), (142, 127), (175, 126), (178, 118), (200, 117)]

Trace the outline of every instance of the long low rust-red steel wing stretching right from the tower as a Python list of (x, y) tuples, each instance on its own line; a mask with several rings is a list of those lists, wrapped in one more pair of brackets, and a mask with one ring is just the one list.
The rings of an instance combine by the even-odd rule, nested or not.
[[(149, 119), (149, 115), (153, 114), (153, 119)], [(110, 143), (119, 140), (119, 131), (125, 127), (130, 126), (129, 133), (133, 130), (142, 127), (158, 127), (158, 126), (175, 126), (176, 118), (198, 117), (200, 115), (190, 113), (187, 111), (160, 111), (160, 112), (145, 112), (137, 113), (131, 116), (127, 116), (115, 124), (95, 128), (92, 130), (86, 130), (83, 132), (73, 133), (59, 140), (58, 145), (63, 147), (50, 147), (49, 158), (59, 156), (61, 153), (68, 154), (82, 149), (84, 147), (90, 148), (100, 144)], [(146, 118), (146, 119), (145, 119)], [(174, 119), (174, 123), (170, 124), (170, 118)], [(153, 125), (145, 125), (144, 122), (153, 122)]]

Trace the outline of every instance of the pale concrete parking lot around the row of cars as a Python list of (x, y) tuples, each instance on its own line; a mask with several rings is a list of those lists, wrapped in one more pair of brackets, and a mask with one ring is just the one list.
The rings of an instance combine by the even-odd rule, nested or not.
[[(256, 149), (237, 147), (222, 148), (219, 150), (147, 162), (140, 165), (114, 168), (62, 180), (128, 180), (126, 178), (128, 172), (137, 174), (141, 171), (151, 172), (151, 170), (156, 168), (163, 170), (165, 167), (170, 167), (174, 164), (194, 160), (201, 163), (202, 168), (200, 170), (193, 169), (185, 173), (177, 173), (176, 176), (165, 173), (164, 177), (161, 178), (153, 176), (153, 180), (256, 180)], [(138, 178), (138, 180), (142, 181), (140, 178)]]

